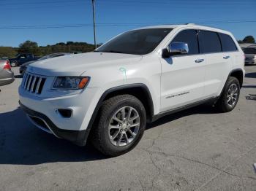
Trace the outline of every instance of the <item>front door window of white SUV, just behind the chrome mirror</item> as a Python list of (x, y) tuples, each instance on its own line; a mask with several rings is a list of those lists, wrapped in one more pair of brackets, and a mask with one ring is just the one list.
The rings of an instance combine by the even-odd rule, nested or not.
[(177, 36), (174, 37), (172, 42), (184, 42), (189, 47), (188, 55), (198, 54), (198, 42), (197, 42), (197, 31), (195, 30), (184, 30), (181, 31)]

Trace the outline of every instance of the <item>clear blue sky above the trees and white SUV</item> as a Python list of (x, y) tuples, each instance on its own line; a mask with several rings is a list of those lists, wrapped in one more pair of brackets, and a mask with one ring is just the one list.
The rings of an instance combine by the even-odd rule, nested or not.
[[(97, 43), (129, 29), (197, 23), (256, 38), (256, 0), (95, 0)], [(0, 0), (0, 46), (93, 44), (91, 0)]]

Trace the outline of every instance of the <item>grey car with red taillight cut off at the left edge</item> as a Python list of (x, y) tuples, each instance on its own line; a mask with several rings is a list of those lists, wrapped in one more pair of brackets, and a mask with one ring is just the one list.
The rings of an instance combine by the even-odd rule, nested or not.
[(9, 61), (3, 59), (0, 60), (0, 86), (9, 85), (14, 79), (14, 74)]

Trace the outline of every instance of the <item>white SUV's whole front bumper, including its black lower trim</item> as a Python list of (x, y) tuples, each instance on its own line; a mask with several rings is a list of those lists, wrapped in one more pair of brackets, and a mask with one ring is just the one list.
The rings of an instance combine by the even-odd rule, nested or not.
[[(37, 77), (46, 78), (39, 75)], [(51, 90), (53, 79), (54, 77), (47, 77), (41, 92), (25, 88), (22, 82), (19, 87), (20, 106), (38, 128), (75, 144), (85, 145), (91, 127), (91, 117), (99, 101), (99, 88)], [(70, 111), (70, 114), (65, 115), (61, 110)]]

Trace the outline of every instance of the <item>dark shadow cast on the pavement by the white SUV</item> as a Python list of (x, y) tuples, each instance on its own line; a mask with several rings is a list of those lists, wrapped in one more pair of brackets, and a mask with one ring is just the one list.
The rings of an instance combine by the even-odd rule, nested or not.
[[(191, 114), (211, 114), (215, 109), (197, 106), (170, 114), (147, 125), (146, 130)], [(37, 165), (54, 162), (104, 160), (107, 157), (90, 143), (78, 147), (63, 139), (34, 128), (22, 109), (0, 114), (0, 164)]]

